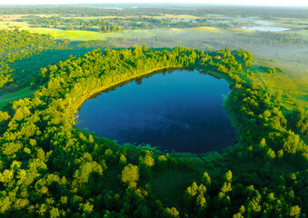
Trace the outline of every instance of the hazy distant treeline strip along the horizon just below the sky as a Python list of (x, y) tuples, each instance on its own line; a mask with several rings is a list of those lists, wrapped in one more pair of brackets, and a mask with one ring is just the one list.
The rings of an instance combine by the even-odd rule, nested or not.
[[(275, 17), (289, 18), (308, 18), (308, 9), (306, 8), (273, 8), (273, 7), (240, 7), (240, 6), (190, 6), (181, 7), (125, 7), (123, 10), (105, 9), (102, 5), (92, 5), (93, 7), (81, 6), (1, 6), (0, 15), (78, 15), (78, 16), (138, 16), (138, 15), (196, 15), (206, 16), (208, 14), (227, 15), (227, 16), (257, 16), (264, 19)], [(121, 7), (121, 5), (117, 5)]]

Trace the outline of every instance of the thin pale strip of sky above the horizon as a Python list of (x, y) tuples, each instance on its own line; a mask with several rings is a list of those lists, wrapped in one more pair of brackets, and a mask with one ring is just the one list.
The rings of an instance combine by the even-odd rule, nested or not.
[[(65, 5), (65, 4), (116, 4), (116, 3), (164, 3), (164, 4), (206, 4), (206, 5), (268, 5), (305, 6), (308, 0), (0, 0), (0, 5)], [(188, 4), (187, 4), (188, 3)]]

